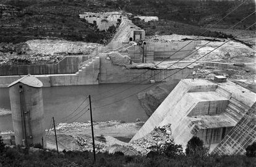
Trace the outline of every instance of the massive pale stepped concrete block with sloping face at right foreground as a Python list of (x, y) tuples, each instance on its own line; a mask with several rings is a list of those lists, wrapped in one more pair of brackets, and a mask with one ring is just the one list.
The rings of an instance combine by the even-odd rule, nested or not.
[(189, 139), (197, 136), (211, 152), (245, 119), (255, 102), (254, 92), (231, 81), (182, 79), (132, 141), (147, 135), (155, 127), (171, 124), (176, 144), (185, 149)]

